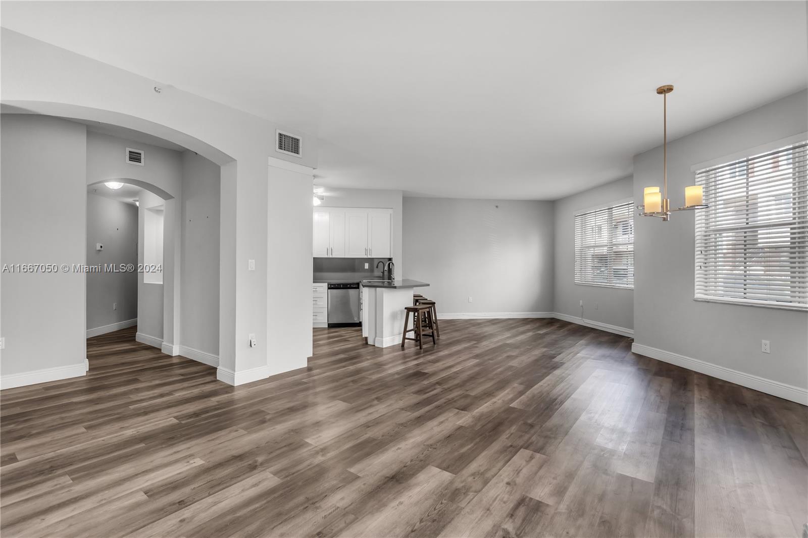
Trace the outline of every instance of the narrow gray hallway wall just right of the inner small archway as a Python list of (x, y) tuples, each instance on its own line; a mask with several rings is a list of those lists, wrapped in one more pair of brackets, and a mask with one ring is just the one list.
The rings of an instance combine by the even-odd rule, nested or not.
[(219, 355), (220, 167), (183, 152), (180, 342)]

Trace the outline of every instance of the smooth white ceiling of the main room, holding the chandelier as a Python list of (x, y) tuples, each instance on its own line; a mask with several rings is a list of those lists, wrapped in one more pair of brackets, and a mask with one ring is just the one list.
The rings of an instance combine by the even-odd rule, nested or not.
[(2, 2), (2, 26), (320, 138), (317, 183), (552, 200), (806, 87), (805, 2)]

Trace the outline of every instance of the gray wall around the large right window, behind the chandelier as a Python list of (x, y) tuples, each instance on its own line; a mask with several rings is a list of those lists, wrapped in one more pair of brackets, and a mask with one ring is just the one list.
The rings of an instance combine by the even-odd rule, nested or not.
[[(806, 91), (748, 111), (668, 144), (671, 204), (694, 183), (692, 165), (808, 130)], [(633, 192), (661, 185), (662, 149), (634, 158)], [(637, 217), (634, 338), (637, 343), (754, 376), (808, 387), (808, 313), (693, 301), (694, 216)], [(760, 340), (771, 341), (771, 354)]]

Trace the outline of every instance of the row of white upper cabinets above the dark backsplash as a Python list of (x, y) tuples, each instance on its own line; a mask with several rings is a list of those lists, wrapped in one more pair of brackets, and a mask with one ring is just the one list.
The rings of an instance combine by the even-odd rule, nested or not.
[(316, 258), (390, 258), (392, 209), (314, 208)]

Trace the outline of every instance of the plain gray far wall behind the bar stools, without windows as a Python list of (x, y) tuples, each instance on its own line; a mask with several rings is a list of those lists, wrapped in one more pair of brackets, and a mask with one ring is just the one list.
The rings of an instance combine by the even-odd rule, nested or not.
[(405, 197), (403, 209), (399, 275), (431, 284), (439, 316), (553, 311), (553, 202)]

